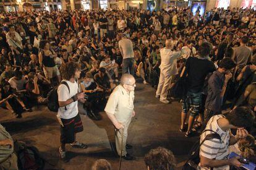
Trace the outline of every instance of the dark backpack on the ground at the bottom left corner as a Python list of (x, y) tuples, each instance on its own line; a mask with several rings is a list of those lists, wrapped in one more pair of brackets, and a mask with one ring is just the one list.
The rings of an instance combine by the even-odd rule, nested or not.
[(45, 160), (40, 157), (37, 148), (23, 145), (17, 152), (18, 166), (20, 170), (41, 170), (45, 167)]

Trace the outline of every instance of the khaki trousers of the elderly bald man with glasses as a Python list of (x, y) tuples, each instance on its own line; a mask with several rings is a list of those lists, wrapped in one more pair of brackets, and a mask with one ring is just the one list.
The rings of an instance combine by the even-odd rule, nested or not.
[[(128, 127), (131, 120), (132, 120), (132, 117), (130, 117), (128, 121), (122, 122), (122, 124), (124, 125), (124, 129), (114, 130), (115, 131), (114, 136), (116, 138), (116, 151), (119, 156), (121, 155), (121, 150), (122, 150), (122, 156), (127, 154), (126, 152), (126, 140), (128, 136), (127, 131), (128, 131)], [(123, 135), (123, 138), (122, 138), (122, 135)]]

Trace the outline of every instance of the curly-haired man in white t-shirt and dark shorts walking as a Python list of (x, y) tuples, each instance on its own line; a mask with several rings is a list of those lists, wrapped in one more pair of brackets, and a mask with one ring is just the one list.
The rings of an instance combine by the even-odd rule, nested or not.
[(67, 162), (65, 145), (70, 143), (73, 148), (85, 149), (88, 146), (77, 142), (75, 135), (83, 131), (83, 124), (79, 116), (78, 101), (85, 103), (84, 93), (80, 93), (76, 79), (81, 74), (80, 67), (75, 62), (68, 62), (61, 67), (61, 75), (64, 80), (58, 87), (58, 120), (61, 124), (61, 147), (59, 156), (62, 161)]

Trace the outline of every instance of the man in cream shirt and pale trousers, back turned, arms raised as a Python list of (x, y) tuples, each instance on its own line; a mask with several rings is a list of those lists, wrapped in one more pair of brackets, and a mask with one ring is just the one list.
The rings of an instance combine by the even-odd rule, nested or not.
[(182, 51), (171, 51), (172, 41), (166, 40), (166, 47), (160, 50), (160, 79), (156, 90), (156, 98), (160, 98), (162, 103), (169, 103), (167, 91), (171, 83), (172, 75), (178, 74), (177, 58), (182, 56)]

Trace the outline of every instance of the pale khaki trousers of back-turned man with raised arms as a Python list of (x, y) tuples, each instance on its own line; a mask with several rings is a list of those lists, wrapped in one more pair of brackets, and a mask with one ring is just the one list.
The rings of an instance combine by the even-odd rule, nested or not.
[(158, 87), (156, 90), (156, 95), (160, 96), (161, 100), (167, 100), (167, 93), (171, 84), (172, 75), (163, 74), (160, 72), (160, 78)]

